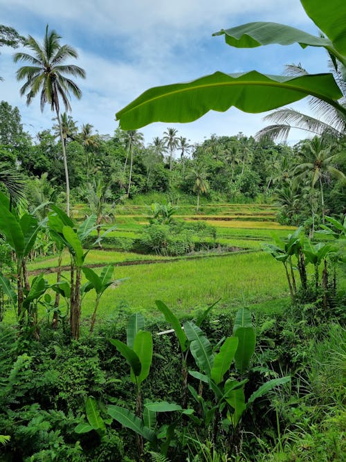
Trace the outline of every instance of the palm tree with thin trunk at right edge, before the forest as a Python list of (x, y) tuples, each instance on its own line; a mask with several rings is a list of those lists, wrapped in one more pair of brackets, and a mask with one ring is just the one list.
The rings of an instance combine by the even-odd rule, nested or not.
[(295, 167), (295, 174), (300, 177), (312, 177), (311, 188), (318, 182), (320, 186), (320, 201), (322, 208), (322, 222), (325, 222), (325, 199), (323, 196), (323, 179), (328, 176), (346, 181), (343, 172), (332, 166), (336, 154), (331, 154), (335, 146), (329, 140), (314, 136), (311, 140), (302, 142), (300, 154), (303, 162)]

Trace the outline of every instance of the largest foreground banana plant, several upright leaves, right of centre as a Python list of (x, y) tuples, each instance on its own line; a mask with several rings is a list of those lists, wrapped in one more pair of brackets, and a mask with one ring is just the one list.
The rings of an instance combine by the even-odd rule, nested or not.
[[(226, 409), (224, 425), (232, 425), (237, 429), (244, 411), (264, 394), (274, 387), (291, 380), (291, 377), (281, 377), (270, 380), (257, 389), (246, 401), (244, 387), (248, 382), (244, 374), (248, 371), (251, 358), (255, 351), (255, 330), (251, 322), (251, 313), (243, 308), (237, 312), (233, 337), (226, 338), (219, 345), (219, 352), (215, 353), (210, 341), (203, 331), (191, 321), (184, 324), (184, 330), (190, 341), (190, 350), (199, 371), (190, 371), (190, 375), (208, 384), (214, 393), (214, 401), (206, 401), (202, 397), (201, 388), (196, 389), (189, 385), (190, 392), (199, 403), (203, 422), (209, 426), (213, 423), (212, 433), (214, 441), (219, 427), (219, 416)], [(230, 373), (230, 366), (235, 362), (235, 369), (239, 379), (235, 380), (234, 373)], [(226, 376), (226, 377), (225, 377)]]

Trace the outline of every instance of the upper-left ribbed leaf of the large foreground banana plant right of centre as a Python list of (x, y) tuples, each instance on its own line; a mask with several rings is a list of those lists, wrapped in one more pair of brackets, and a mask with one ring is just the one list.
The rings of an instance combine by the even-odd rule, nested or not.
[(212, 362), (214, 360), (210, 341), (204, 337), (202, 330), (191, 321), (184, 323), (184, 329), (186, 337), (191, 342), (190, 350), (197, 362), (197, 366), (210, 377)]

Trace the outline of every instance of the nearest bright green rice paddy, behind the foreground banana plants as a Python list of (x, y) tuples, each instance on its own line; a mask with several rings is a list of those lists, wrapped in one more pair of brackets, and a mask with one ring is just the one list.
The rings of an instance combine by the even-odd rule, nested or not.
[[(145, 312), (147, 317), (155, 318), (158, 312), (154, 301), (158, 299), (176, 314), (186, 314), (220, 297), (215, 312), (266, 303), (288, 294), (282, 265), (262, 252), (116, 267), (114, 277), (128, 279), (104, 293), (99, 321), (116, 314), (121, 302), (127, 303), (131, 312)], [(53, 283), (55, 276), (49, 274), (47, 279)], [(93, 299), (93, 292), (86, 294), (82, 318), (91, 317)]]

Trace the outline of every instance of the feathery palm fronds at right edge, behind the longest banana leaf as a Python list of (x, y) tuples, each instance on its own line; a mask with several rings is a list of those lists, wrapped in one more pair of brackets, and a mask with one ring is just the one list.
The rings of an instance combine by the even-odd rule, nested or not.
[[(328, 64), (338, 87), (343, 94), (343, 97), (338, 100), (338, 103), (345, 107), (346, 80), (345, 74), (340, 71), (342, 66), (336, 59), (330, 59)], [(300, 64), (289, 64), (286, 66), (286, 73), (287, 75), (295, 77), (309, 75), (306, 69), (304, 69)], [(341, 114), (335, 107), (318, 98), (309, 98), (309, 104), (313, 112), (316, 112), (316, 118), (302, 114), (292, 107), (282, 107), (264, 117), (264, 121), (272, 122), (273, 125), (268, 125), (267, 127), (262, 128), (260, 132), (257, 132), (255, 138), (264, 139), (268, 137), (273, 141), (286, 141), (292, 128), (298, 128), (321, 136), (329, 134), (334, 138), (340, 138), (345, 135), (346, 118), (344, 114)]]

